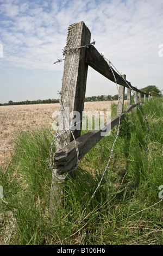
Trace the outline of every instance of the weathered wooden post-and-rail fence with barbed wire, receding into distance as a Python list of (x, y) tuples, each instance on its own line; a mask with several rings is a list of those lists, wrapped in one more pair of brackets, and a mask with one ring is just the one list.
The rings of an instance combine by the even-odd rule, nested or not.
[[(125, 118), (125, 113), (131, 111), (131, 109), (136, 107), (137, 105), (140, 105), (143, 111), (141, 94), (145, 95), (144, 99), (146, 99), (146, 95), (151, 95), (145, 92), (141, 92), (141, 90), (131, 86), (131, 83), (126, 80), (126, 75), (121, 75), (120, 72), (117, 71), (115, 66), (110, 62), (110, 60), (106, 59), (102, 54), (100, 54), (96, 50), (96, 48), (93, 46), (95, 45), (95, 40), (93, 40), (93, 42), (90, 43), (90, 35), (91, 35), (90, 31), (85, 26), (84, 22), (79, 22), (69, 26), (68, 34), (67, 34), (67, 44), (63, 50), (65, 59), (60, 59), (60, 60), (58, 59), (57, 61), (57, 62), (60, 62), (61, 60), (65, 60), (64, 75), (62, 79), (62, 89), (60, 92), (60, 112), (62, 114), (62, 119), (59, 116), (59, 129), (57, 131), (57, 136), (55, 136), (55, 139), (51, 145), (51, 154), (52, 154), (53, 143), (56, 142), (56, 152), (53, 156), (53, 168), (50, 161), (50, 166), (52, 169), (52, 193), (51, 193), (49, 208), (53, 213), (55, 213), (55, 211), (57, 210), (55, 203), (60, 202), (61, 191), (59, 188), (58, 180), (60, 181), (65, 180), (66, 176), (69, 173), (71, 173), (73, 170), (76, 170), (78, 168), (79, 160), (82, 159), (82, 157), (100, 139), (102, 139), (102, 136), (101, 136), (102, 130), (107, 129), (109, 125), (111, 126), (111, 129), (116, 125), (118, 125), (117, 135), (111, 148), (109, 161), (105, 167), (105, 170), (102, 174), (102, 178), (99, 181), (99, 184), (96, 190), (92, 194), (91, 199), (93, 198), (97, 189), (101, 185), (101, 182), (106, 170), (109, 167), (112, 152), (114, 150), (114, 145), (120, 133), (120, 123)], [(108, 63), (106, 62), (106, 60), (108, 61)], [(112, 82), (115, 82), (117, 89), (119, 84), (118, 109), (117, 109), (117, 115), (109, 121), (110, 123), (106, 121), (106, 123), (99, 126), (99, 130), (95, 131), (95, 129), (93, 129), (92, 131), (85, 133), (83, 136), (80, 136), (80, 130), (72, 131), (72, 127), (70, 127), (69, 125), (73, 119), (72, 117), (69, 118), (68, 130), (65, 130), (64, 122), (68, 119), (64, 114), (65, 114), (66, 106), (70, 107), (69, 113), (72, 111), (78, 111), (79, 113), (82, 113), (83, 111), (88, 65), (91, 66), (96, 71), (98, 71), (103, 76), (107, 77)], [(112, 66), (114, 66), (114, 68), (112, 68)], [(127, 87), (127, 90), (128, 90), (128, 94), (127, 94), (128, 108), (126, 111), (123, 111), (125, 87)], [(135, 103), (132, 105), (131, 105), (131, 91), (134, 94), (134, 101), (135, 101)], [(139, 98), (137, 97), (137, 93), (139, 93)], [(150, 97), (148, 97), (148, 100), (149, 99)], [(137, 103), (137, 100), (139, 103)], [(143, 111), (143, 114), (144, 114), (145, 120), (147, 121), (144, 111)], [(82, 120), (83, 119), (81, 119), (78, 122), (81, 124), (81, 127), (82, 127)], [(64, 123), (64, 127), (61, 126), (62, 125), (61, 122)], [(76, 125), (78, 123), (76, 123)], [(147, 121), (147, 126), (148, 126), (148, 121)], [(145, 141), (146, 153), (147, 153), (148, 133), (149, 133), (149, 126), (148, 126), (146, 141)], [(146, 158), (146, 154), (145, 154), (145, 158)], [(66, 176), (63, 175), (65, 172), (68, 172)]]

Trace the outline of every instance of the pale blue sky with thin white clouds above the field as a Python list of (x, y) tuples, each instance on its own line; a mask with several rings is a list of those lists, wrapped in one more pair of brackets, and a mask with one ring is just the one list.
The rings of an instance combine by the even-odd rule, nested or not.
[[(0, 0), (1, 103), (58, 99), (64, 62), (53, 63), (79, 21), (133, 86), (163, 89), (162, 0)], [(86, 96), (108, 94), (116, 85), (89, 67)]]

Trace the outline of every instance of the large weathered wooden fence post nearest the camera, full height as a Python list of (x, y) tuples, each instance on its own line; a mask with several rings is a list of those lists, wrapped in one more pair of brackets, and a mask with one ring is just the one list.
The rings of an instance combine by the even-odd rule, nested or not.
[[(83, 21), (70, 25), (67, 33), (66, 49), (89, 44), (90, 39), (91, 33)], [(60, 113), (62, 114), (59, 115), (58, 127), (60, 137), (56, 141), (56, 151), (73, 141), (71, 131), (67, 131), (74, 118), (71, 114), (77, 111), (80, 114), (80, 120), (82, 120), (88, 68), (85, 63), (85, 54), (86, 47), (65, 51), (64, 74), (60, 93)], [(66, 121), (68, 121), (68, 127)], [(79, 125), (82, 127), (82, 123)], [(67, 132), (62, 135), (64, 131)], [(80, 137), (80, 131), (80, 129), (73, 131), (74, 138)], [(62, 175), (57, 173), (57, 169), (53, 169), (49, 203), (49, 210), (53, 216), (61, 206), (59, 182), (62, 181), (60, 181), (60, 178), (62, 178)]]

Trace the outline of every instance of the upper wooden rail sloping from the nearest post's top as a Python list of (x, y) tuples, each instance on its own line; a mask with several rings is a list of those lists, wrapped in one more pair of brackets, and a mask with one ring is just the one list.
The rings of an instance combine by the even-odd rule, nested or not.
[[(128, 82), (127, 80), (125, 81), (122, 76), (120, 76), (114, 69), (112, 69), (112, 71), (114, 72), (114, 75), (115, 75), (115, 78), (114, 78), (114, 75), (112, 74), (111, 69), (109, 69), (108, 63), (103, 58), (102, 54), (100, 54), (93, 45), (90, 45), (86, 49), (85, 63), (87, 65), (91, 66), (91, 68), (98, 71), (101, 75), (103, 75), (106, 78), (108, 78), (109, 80), (111, 80), (112, 82), (115, 83), (115, 78), (116, 78), (117, 84), (120, 84), (121, 86), (124, 86), (127, 88), (131, 88), (138, 93), (148, 95), (148, 93), (141, 92), (141, 90), (131, 86), (130, 82)], [(129, 86), (128, 86), (128, 84), (129, 84)]]

